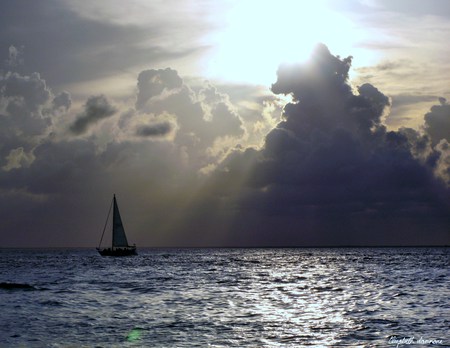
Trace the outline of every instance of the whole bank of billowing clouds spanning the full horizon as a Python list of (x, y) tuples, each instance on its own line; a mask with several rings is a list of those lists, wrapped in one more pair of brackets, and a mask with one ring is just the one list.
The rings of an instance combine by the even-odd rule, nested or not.
[[(350, 65), (319, 46), (280, 67), (275, 94), (244, 113), (242, 96), (174, 69), (144, 70), (135, 95), (91, 96), (78, 114), (39, 75), (18, 74), (7, 95), (13, 75), (3, 75), (0, 218), (17, 232), (0, 242), (94, 245), (115, 192), (138, 245), (447, 243), (447, 140), (389, 131), (390, 98), (372, 84), (352, 88)], [(278, 117), (280, 93), (291, 101)], [(23, 131), (33, 117), (44, 123)], [(267, 134), (252, 147), (257, 122)]]

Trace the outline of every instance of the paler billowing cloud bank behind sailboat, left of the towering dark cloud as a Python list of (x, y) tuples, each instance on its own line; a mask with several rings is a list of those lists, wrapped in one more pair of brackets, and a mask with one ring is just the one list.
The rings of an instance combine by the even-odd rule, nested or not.
[[(113, 103), (101, 95), (87, 98), (76, 114), (78, 106), (71, 109), (68, 92), (54, 95), (45, 82), (37, 83), (38, 75), (33, 75), (36, 81), (20, 76), (48, 93), (39, 99), (42, 90), (31, 89), (31, 93), (24, 84), (17, 90), (25, 98), (19, 98), (19, 92), (2, 97), (0, 192), (10, 204), (0, 200), (1, 215), (12, 217), (5, 230), (20, 231), (12, 239), (1, 235), (2, 245), (95, 244), (97, 236), (88, 231), (96, 224), (95, 216), (100, 216), (101, 197), (111, 192), (135, 196), (133, 202), (124, 200), (131, 210), (143, 213), (129, 223), (131, 229), (140, 230), (147, 222), (157, 226), (152, 236), (141, 236), (146, 243), (149, 238), (171, 243), (180, 235), (164, 218), (167, 211), (182, 214), (202, 182), (202, 169), (214, 168), (224, 156), (214, 149), (234, 148), (245, 133), (226, 95), (209, 83), (191, 88), (172, 69), (139, 75), (136, 95), (129, 98), (142, 101), (138, 108), (136, 103)], [(1, 83), (5, 82), (3, 78)], [(31, 141), (31, 134), (15, 135), (22, 120), (17, 109), (6, 110), (19, 99), (34, 110), (29, 117), (48, 118), (46, 127), (37, 132), (39, 140)], [(77, 136), (67, 137), (68, 129)], [(20, 218), (20, 209), (27, 211), (26, 219)], [(52, 218), (54, 214), (58, 217)], [(80, 215), (85, 218), (79, 219)], [(27, 221), (45, 231), (41, 238), (29, 235), (27, 231), (33, 229)], [(71, 227), (63, 227), (68, 221)]]

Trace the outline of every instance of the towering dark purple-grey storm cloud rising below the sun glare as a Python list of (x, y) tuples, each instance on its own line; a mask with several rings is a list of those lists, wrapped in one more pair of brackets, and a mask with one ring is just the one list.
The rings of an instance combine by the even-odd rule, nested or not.
[[(267, 135), (261, 151), (233, 154), (211, 179), (216, 197), (234, 207), (228, 226), (235, 240), (449, 242), (450, 192), (435, 176), (433, 160), (416, 158), (412, 138), (386, 130), (381, 123), (386, 96), (369, 84), (352, 92), (350, 62), (319, 46), (308, 63), (279, 69), (272, 90), (293, 98), (284, 121)], [(419, 138), (415, 151), (424, 153)], [(426, 138), (422, 142), (428, 146)], [(236, 183), (243, 186), (233, 190)]]

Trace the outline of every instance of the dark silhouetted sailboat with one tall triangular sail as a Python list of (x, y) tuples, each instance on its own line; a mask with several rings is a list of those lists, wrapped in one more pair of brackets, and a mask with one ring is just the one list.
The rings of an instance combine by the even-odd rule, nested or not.
[[(108, 226), (109, 217), (113, 211), (112, 217), (112, 245), (108, 248), (101, 249), (103, 236), (105, 235), (106, 226)], [(106, 217), (105, 227), (103, 228), (102, 237), (98, 245), (97, 251), (102, 256), (131, 256), (137, 255), (136, 245), (128, 245), (127, 236), (123, 227), (122, 219), (117, 205), (116, 195), (113, 195), (111, 206), (109, 207), (108, 216)]]

